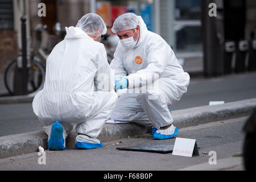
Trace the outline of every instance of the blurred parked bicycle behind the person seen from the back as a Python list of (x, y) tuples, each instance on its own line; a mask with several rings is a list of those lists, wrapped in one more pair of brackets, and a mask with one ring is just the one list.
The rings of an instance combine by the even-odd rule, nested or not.
[[(46, 77), (46, 60), (48, 54), (51, 52), (51, 49), (55, 46), (56, 42), (60, 42), (63, 40), (63, 30), (61, 30), (60, 23), (56, 23), (55, 34), (57, 36), (57, 40), (54, 41), (51, 37), (51, 41), (48, 41), (48, 45), (46, 48), (42, 48), (42, 34), (44, 31), (47, 31), (47, 26), (38, 24), (35, 27), (35, 38), (36, 43), (34, 48), (32, 48), (33, 43), (28, 41), (28, 52), (27, 52), (27, 68), (28, 68), (28, 82), (27, 82), (27, 90), (28, 95), (35, 96), (37, 92), (43, 89), (44, 80)], [(49, 47), (50, 46), (50, 47)], [(18, 72), (22, 70), (22, 51), (19, 50), (19, 56), (16, 60), (14, 60), (5, 71), (5, 86), (11, 96), (17, 94), (16, 90), (18, 87), (19, 78)]]

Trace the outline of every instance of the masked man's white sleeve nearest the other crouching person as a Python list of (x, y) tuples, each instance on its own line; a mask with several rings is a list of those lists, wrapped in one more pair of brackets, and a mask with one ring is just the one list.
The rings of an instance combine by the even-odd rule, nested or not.
[(122, 53), (121, 47), (122, 47), (121, 43), (118, 42), (117, 49), (115, 50), (115, 53), (114, 53), (114, 59), (110, 63), (110, 67), (114, 70), (115, 76), (119, 78), (127, 76), (126, 69), (123, 65), (123, 57), (120, 54)]

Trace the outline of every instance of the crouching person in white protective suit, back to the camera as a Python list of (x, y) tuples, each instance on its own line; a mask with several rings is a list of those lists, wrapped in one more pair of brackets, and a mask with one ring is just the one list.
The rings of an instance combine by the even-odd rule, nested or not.
[(117, 101), (114, 73), (104, 45), (98, 41), (106, 25), (89, 13), (48, 56), (46, 81), (32, 102), (34, 113), (48, 134), (49, 150), (64, 150), (65, 138), (76, 125), (76, 148), (101, 148), (100, 134)]

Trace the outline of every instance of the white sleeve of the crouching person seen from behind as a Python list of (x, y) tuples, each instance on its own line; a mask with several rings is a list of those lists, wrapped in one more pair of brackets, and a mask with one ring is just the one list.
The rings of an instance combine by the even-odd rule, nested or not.
[(108, 63), (106, 50), (102, 44), (98, 61), (96, 62), (97, 72), (94, 77), (94, 86), (96, 90), (110, 91), (114, 89), (114, 72)]

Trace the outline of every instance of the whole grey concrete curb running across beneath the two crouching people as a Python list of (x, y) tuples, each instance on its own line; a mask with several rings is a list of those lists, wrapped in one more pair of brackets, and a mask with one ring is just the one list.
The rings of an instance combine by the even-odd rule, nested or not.
[[(249, 115), (254, 108), (256, 108), (256, 98), (229, 102), (222, 105), (176, 110), (172, 111), (172, 117), (174, 119), (174, 125), (181, 128), (246, 116)], [(98, 139), (102, 142), (106, 142), (127, 136), (146, 134), (149, 133), (150, 130), (150, 127), (139, 126), (135, 123), (123, 123), (120, 125), (105, 124)], [(76, 135), (73, 129), (71, 134), (67, 137), (67, 147), (73, 147), (75, 145)], [(47, 148), (47, 135), (44, 131), (0, 137), (0, 158), (37, 152), (39, 146)]]

